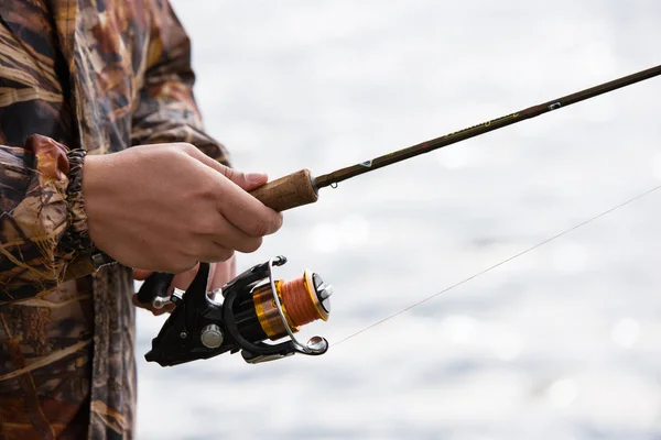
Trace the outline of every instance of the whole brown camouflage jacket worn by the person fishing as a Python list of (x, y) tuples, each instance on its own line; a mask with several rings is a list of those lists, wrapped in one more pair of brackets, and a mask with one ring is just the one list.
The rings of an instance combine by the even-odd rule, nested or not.
[(0, 0), (0, 439), (134, 436), (130, 270), (64, 282), (95, 252), (84, 155), (202, 131), (167, 0)]

